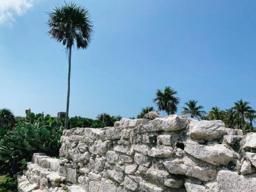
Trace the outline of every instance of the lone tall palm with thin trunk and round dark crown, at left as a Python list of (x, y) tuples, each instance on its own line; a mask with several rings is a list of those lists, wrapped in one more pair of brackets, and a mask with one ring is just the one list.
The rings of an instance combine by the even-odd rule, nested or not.
[(49, 35), (57, 42), (62, 42), (66, 46), (69, 60), (69, 72), (67, 78), (67, 110), (65, 117), (65, 129), (67, 129), (67, 119), (69, 117), (69, 94), (70, 94), (70, 74), (71, 74), (71, 49), (86, 49), (92, 36), (92, 22), (88, 10), (75, 3), (65, 3), (63, 7), (55, 7), (49, 13), (48, 26)]

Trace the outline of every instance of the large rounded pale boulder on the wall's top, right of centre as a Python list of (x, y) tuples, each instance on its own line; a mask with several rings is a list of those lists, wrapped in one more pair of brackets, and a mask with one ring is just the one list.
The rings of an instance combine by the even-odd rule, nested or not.
[(226, 133), (225, 124), (220, 121), (191, 121), (189, 135), (195, 139), (220, 139)]

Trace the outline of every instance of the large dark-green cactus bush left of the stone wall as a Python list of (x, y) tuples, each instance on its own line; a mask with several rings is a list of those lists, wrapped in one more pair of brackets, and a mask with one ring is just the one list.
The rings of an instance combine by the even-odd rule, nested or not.
[(34, 152), (46, 152), (49, 156), (59, 156), (61, 121), (43, 113), (26, 111), (25, 118), (19, 118), (17, 125), (0, 137), (0, 170), (3, 174), (13, 174), (26, 168)]

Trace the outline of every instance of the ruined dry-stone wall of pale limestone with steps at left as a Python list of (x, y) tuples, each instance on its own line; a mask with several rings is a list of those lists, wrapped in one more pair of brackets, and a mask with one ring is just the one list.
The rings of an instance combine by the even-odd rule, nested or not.
[(60, 159), (34, 154), (23, 192), (255, 192), (256, 133), (222, 121), (121, 119), (64, 130)]

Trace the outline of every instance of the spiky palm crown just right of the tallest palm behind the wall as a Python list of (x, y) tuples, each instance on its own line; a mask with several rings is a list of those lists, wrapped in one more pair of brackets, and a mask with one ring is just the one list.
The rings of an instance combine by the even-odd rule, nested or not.
[(185, 105), (187, 107), (183, 106), (183, 111), (181, 112), (183, 115), (190, 115), (191, 118), (197, 117), (197, 119), (201, 119), (206, 114), (204, 110), (201, 110), (203, 106), (197, 106), (197, 100), (189, 100), (189, 102), (185, 102)]

